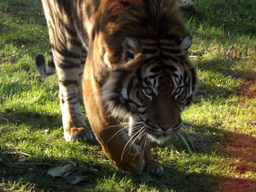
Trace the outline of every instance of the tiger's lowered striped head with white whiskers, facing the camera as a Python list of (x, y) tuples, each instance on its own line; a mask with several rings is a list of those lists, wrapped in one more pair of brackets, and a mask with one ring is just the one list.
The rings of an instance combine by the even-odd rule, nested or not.
[(101, 97), (112, 116), (142, 122), (148, 137), (158, 142), (178, 131), (182, 109), (197, 88), (187, 51), (191, 43), (187, 34), (126, 37), (122, 63), (102, 87)]

